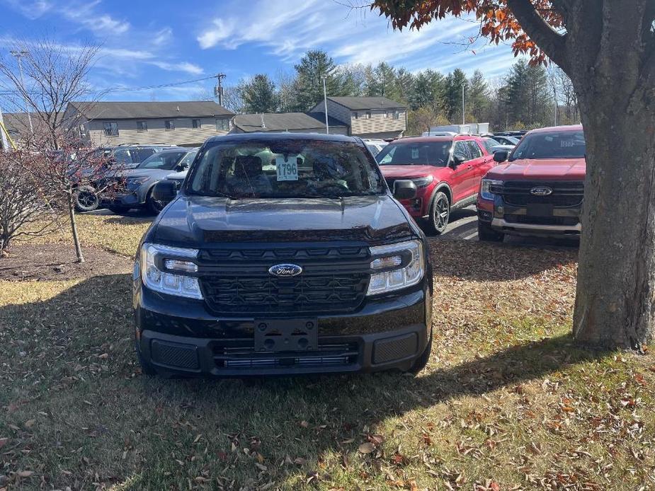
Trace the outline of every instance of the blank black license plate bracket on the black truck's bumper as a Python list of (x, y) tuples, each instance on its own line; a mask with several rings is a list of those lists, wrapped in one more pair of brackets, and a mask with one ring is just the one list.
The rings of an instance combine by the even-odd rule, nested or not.
[(316, 351), (319, 349), (318, 322), (305, 319), (256, 319), (255, 351)]

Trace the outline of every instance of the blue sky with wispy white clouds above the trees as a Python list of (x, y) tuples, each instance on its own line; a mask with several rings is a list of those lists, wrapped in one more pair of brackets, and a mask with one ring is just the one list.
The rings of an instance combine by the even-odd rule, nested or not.
[[(257, 73), (291, 73), (308, 49), (339, 63), (386, 61), (411, 71), (482, 69), (488, 78), (515, 61), (506, 45), (480, 40), (474, 21), (447, 18), (420, 31), (392, 30), (360, 0), (0, 0), (0, 50), (16, 37), (49, 35), (64, 46), (101, 44), (90, 81), (135, 88), (200, 79), (218, 72), (226, 85)], [(146, 91), (113, 91), (107, 100), (191, 100), (215, 81)]]

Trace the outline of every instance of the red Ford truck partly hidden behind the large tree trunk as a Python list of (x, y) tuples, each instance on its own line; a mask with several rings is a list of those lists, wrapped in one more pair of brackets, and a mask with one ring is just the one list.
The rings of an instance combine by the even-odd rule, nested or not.
[(506, 163), (484, 176), (477, 200), (481, 241), (505, 234), (578, 237), (586, 145), (581, 125), (533, 129)]

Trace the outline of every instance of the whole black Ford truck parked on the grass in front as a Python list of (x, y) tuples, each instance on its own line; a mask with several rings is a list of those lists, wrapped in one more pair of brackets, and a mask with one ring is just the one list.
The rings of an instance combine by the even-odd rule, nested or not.
[[(270, 163), (274, 168), (266, 170)], [(411, 181), (396, 196), (414, 195)], [(135, 263), (145, 374), (418, 371), (431, 350), (426, 238), (355, 137), (208, 139)]]

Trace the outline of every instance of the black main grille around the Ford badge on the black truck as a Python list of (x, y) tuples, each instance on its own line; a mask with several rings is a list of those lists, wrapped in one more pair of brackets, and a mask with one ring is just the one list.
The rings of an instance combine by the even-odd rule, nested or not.
[[(270, 275), (268, 268), (281, 262), (304, 271), (297, 277)], [(215, 313), (346, 313), (364, 300), (369, 264), (368, 247), (203, 250), (200, 286)]]

